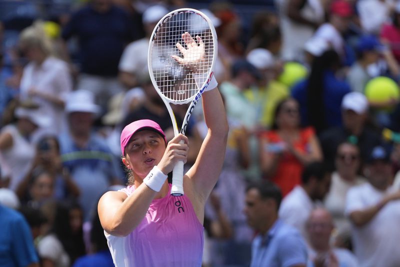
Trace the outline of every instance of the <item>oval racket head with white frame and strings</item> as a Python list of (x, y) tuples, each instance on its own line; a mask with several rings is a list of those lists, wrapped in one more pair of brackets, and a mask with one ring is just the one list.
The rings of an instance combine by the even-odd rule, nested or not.
[[(192, 65), (180, 64), (172, 55), (183, 57), (176, 46), (186, 48), (182, 34), (188, 32), (199, 46), (196, 35), (204, 45), (204, 56)], [(164, 15), (154, 27), (148, 47), (148, 71), (154, 88), (165, 101), (173, 104), (190, 102), (209, 79), (217, 57), (217, 38), (211, 20), (192, 8), (173, 10)]]

